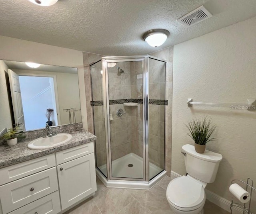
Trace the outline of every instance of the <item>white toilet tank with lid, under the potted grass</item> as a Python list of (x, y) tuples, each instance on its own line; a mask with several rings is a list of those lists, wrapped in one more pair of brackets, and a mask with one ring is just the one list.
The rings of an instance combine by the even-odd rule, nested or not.
[(190, 144), (182, 146), (182, 151), (186, 153), (184, 158), (188, 175), (206, 183), (215, 181), (222, 155), (208, 150), (197, 153), (194, 145)]

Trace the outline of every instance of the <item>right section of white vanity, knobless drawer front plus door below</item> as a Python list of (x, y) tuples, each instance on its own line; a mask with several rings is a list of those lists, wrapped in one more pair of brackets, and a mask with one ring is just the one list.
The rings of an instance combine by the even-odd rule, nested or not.
[(57, 166), (62, 210), (96, 191), (93, 152), (91, 142), (56, 153), (57, 163), (62, 163)]

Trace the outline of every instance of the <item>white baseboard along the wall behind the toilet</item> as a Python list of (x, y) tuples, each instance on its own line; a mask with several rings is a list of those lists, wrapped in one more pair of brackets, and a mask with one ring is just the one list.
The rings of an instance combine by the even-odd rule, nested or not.
[[(180, 174), (171, 171), (171, 179), (175, 179), (181, 177)], [(216, 204), (217, 206), (219, 206), (220, 208), (230, 212), (230, 204), (231, 202), (229, 200), (227, 200), (226, 198), (223, 198), (217, 194), (215, 194), (214, 192), (211, 192), (210, 190), (205, 190), (206, 193), (206, 199), (209, 200), (210, 202)], [(232, 214), (242, 214), (243, 211), (242, 209), (238, 208), (238, 207), (234, 207), (233, 208), (233, 212)]]

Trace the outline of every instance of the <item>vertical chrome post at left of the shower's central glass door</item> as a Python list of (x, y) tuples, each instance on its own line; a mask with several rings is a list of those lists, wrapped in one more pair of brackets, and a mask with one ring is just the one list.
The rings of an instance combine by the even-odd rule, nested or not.
[(106, 158), (107, 158), (107, 179), (110, 179), (111, 171), (111, 145), (110, 145), (110, 124), (109, 124), (109, 102), (108, 102), (108, 67), (105, 59), (102, 59), (102, 86), (103, 86), (103, 108), (105, 115), (106, 135)]

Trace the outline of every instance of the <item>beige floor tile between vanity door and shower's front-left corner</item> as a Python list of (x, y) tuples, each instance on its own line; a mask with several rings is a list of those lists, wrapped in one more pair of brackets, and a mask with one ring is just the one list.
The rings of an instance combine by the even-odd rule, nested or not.
[(132, 202), (134, 198), (126, 189), (106, 188), (98, 192), (93, 200), (102, 214), (116, 214)]

